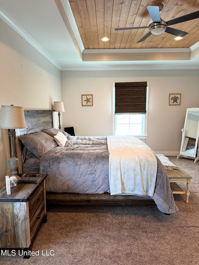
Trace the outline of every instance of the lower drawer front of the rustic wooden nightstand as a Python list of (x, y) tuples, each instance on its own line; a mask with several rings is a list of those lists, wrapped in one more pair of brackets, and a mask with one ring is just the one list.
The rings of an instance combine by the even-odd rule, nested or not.
[(30, 239), (35, 235), (37, 232), (41, 222), (44, 220), (45, 217), (45, 201), (43, 200), (36, 210), (35, 214), (30, 218)]

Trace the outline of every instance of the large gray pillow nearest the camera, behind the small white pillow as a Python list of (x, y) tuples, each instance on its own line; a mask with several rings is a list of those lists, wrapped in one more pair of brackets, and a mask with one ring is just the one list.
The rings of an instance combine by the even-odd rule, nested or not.
[(43, 156), (49, 150), (57, 146), (53, 137), (44, 132), (21, 135), (19, 139), (36, 157)]

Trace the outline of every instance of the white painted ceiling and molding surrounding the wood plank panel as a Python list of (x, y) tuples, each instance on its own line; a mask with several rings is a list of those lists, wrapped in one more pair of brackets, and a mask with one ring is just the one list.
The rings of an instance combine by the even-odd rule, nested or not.
[(67, 0), (0, 0), (0, 18), (61, 70), (199, 69), (199, 43), (84, 50)]

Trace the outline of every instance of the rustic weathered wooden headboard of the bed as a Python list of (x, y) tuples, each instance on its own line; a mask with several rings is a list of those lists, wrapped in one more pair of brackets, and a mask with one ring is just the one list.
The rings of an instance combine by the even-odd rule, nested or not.
[(25, 110), (25, 129), (17, 129), (16, 143), (15, 143), (15, 156), (19, 159), (19, 173), (22, 173), (22, 146), (19, 136), (39, 132), (44, 129), (53, 128), (54, 110)]

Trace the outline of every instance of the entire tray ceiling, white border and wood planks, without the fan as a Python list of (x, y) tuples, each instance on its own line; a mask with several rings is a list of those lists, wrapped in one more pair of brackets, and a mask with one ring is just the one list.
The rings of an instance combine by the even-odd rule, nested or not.
[(199, 0), (1, 0), (0, 27), (62, 70), (199, 69), (199, 19), (170, 26), (188, 32), (180, 41), (164, 32), (137, 43), (148, 28), (115, 30), (148, 26), (149, 5), (163, 5), (165, 21), (199, 11)]

